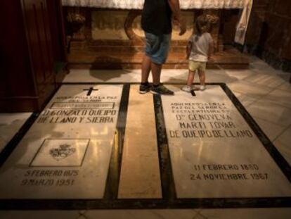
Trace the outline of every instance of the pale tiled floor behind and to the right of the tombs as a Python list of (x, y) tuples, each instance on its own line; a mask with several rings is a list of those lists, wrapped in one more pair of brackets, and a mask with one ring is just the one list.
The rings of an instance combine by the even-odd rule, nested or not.
[[(226, 83), (291, 165), (291, 74), (257, 57), (250, 60), (247, 70), (207, 70), (207, 82)], [(187, 75), (188, 70), (163, 70), (161, 80), (186, 82)], [(139, 82), (140, 77), (140, 70), (71, 70), (65, 82)]]

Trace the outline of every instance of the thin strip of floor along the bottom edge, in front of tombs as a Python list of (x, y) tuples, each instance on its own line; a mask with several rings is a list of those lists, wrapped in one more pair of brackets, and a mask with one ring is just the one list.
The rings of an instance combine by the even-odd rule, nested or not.
[(290, 208), (0, 211), (5, 219), (289, 219)]

